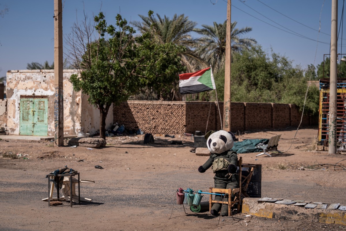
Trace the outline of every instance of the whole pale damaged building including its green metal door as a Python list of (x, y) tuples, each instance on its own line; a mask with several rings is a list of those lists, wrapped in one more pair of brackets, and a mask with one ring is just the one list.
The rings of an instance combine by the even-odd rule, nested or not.
[[(64, 136), (95, 134), (100, 127), (99, 109), (89, 104), (87, 95), (73, 90), (72, 74), (77, 70), (63, 71)], [(54, 94), (54, 70), (8, 71), (0, 124), (6, 124), (9, 135), (54, 136)], [(106, 128), (112, 125), (112, 111)]]

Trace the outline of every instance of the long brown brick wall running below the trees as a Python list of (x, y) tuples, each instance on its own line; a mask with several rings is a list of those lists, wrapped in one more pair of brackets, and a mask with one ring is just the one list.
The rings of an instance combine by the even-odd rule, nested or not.
[[(223, 118), (223, 102), (219, 102)], [(113, 108), (113, 122), (144, 133), (183, 134), (220, 130), (216, 102), (129, 100)], [(231, 103), (231, 131), (298, 127), (299, 108), (293, 104)], [(302, 125), (317, 125), (318, 119), (303, 117)]]

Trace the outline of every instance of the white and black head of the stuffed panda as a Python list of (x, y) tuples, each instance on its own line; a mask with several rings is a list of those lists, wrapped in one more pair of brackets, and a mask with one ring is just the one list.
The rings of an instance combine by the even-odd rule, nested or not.
[(209, 131), (205, 136), (207, 148), (211, 153), (222, 153), (233, 148), (236, 136), (231, 132)]

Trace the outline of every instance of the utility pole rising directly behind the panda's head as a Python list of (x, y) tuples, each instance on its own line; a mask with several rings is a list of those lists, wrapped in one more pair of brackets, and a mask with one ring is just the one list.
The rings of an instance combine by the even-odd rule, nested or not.
[(224, 93), (224, 127), (231, 131), (231, 0), (227, 1), (227, 27), (226, 27), (226, 59), (225, 59), (225, 93)]

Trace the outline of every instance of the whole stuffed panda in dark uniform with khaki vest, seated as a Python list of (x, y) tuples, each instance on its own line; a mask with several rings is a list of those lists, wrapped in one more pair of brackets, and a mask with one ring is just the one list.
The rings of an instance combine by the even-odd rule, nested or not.
[[(209, 159), (198, 168), (198, 171), (203, 173), (212, 167), (213, 173), (215, 173), (215, 188), (238, 188), (238, 174), (236, 173), (238, 156), (232, 150), (236, 139), (235, 135), (224, 130), (209, 131), (204, 138), (207, 140), (207, 148), (211, 154)], [(232, 195), (232, 198), (234, 198), (234, 195)], [(222, 197), (216, 195), (215, 200), (222, 201)], [(228, 197), (225, 197), (224, 201), (228, 201)], [(210, 213), (217, 216), (222, 207), (221, 215), (228, 215), (228, 207), (221, 205), (214, 203)]]

